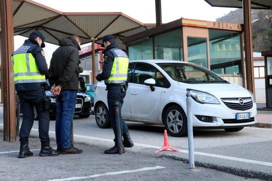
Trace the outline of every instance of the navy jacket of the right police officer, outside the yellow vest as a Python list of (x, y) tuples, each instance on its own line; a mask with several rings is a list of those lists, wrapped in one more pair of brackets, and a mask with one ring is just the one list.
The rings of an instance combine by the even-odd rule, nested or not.
[[(117, 44), (110, 44), (109, 46), (107, 46), (106, 49), (104, 49), (103, 54), (104, 54), (104, 63), (103, 63), (103, 70), (102, 73), (98, 74), (96, 76), (96, 80), (101, 81), (101, 80), (107, 80), (110, 78), (111, 75), (111, 69), (112, 69), (112, 65), (114, 62), (114, 54), (109, 51), (110, 49), (120, 49), (119, 46)], [(115, 85), (124, 85), (124, 83), (120, 83), (120, 84), (115, 84)]]

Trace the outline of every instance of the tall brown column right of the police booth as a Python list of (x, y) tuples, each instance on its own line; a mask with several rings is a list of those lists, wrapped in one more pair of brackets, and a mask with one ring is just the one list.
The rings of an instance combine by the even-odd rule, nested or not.
[(255, 95), (254, 66), (253, 66), (253, 45), (251, 25), (251, 0), (243, 0), (244, 13), (244, 35), (245, 35), (245, 63), (246, 63), (246, 84), (247, 89)]

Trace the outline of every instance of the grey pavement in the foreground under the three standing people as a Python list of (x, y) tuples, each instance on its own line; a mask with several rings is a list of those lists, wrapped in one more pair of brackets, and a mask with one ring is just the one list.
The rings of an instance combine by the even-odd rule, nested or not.
[[(2, 140), (0, 131), (0, 140)], [(17, 158), (19, 142), (0, 143), (0, 180), (1, 181), (257, 181), (227, 174), (224, 172), (196, 167), (194, 171), (181, 161), (156, 158), (133, 151), (123, 155), (106, 155), (104, 145), (76, 143), (84, 152), (76, 155), (40, 157), (40, 141), (30, 139), (34, 156)], [(54, 141), (52, 146), (56, 146)], [(14, 151), (15, 150), (15, 151)], [(9, 152), (10, 151), (10, 152)], [(14, 152), (12, 152), (14, 151)]]

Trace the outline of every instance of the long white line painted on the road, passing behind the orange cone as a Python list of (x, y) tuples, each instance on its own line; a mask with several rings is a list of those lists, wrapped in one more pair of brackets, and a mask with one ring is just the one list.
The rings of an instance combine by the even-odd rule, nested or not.
[[(0, 125), (2, 125), (2, 124), (0, 124)], [(260, 128), (260, 129), (265, 129), (265, 128)], [(39, 132), (38, 129), (31, 129), (31, 130)], [(271, 130), (271, 129), (269, 129), (269, 130)], [(49, 131), (49, 133), (55, 134), (54, 131)], [(74, 137), (84, 138), (84, 139), (89, 139), (89, 140), (98, 140), (98, 141), (103, 141), (103, 142), (113, 142), (113, 140), (110, 140), (110, 139), (90, 137), (90, 136), (84, 136), (84, 135), (74, 135)], [(161, 146), (155, 146), (155, 145), (145, 145), (145, 144), (137, 144), (137, 143), (134, 143), (134, 145), (147, 147), (147, 148), (156, 148), (156, 149), (161, 148)], [(181, 149), (181, 153), (188, 153), (188, 150)], [(226, 159), (226, 160), (240, 161), (240, 162), (245, 162), (245, 163), (253, 163), (253, 164), (258, 164), (258, 165), (266, 165), (266, 166), (272, 167), (272, 163), (270, 163), (270, 162), (262, 162), (262, 161), (257, 161), (257, 160), (250, 160), (250, 159), (237, 158), (237, 157), (231, 157), (231, 156), (225, 156), (225, 155), (219, 155), (219, 154), (204, 153), (204, 152), (194, 152), (194, 154), (202, 155), (202, 156), (210, 156), (210, 157), (215, 157), (215, 158), (222, 158), (222, 159)]]

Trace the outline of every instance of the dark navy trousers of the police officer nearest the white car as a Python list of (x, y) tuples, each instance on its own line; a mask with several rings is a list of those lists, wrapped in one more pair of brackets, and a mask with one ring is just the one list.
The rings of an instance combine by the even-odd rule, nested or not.
[(107, 87), (108, 94), (107, 94), (107, 99), (108, 99), (108, 107), (109, 107), (109, 121), (110, 124), (113, 128), (115, 138), (117, 136), (116, 134), (116, 122), (115, 122), (115, 112), (114, 112), (114, 106), (113, 104), (115, 102), (118, 102), (119, 104), (119, 117), (120, 117), (120, 125), (121, 125), (121, 134), (123, 135), (124, 133), (128, 133), (129, 129), (124, 121), (123, 117), (121, 116), (121, 109), (124, 103), (124, 98), (126, 96), (126, 91), (122, 92), (122, 89), (120, 86), (111, 86)]

